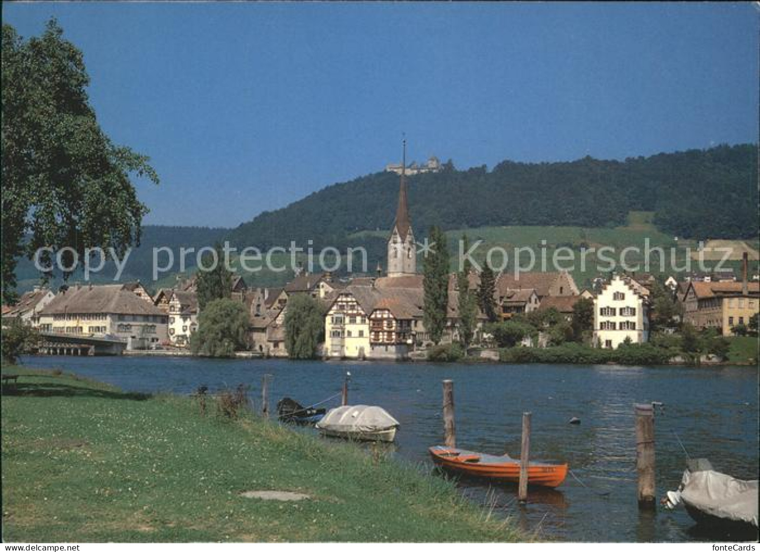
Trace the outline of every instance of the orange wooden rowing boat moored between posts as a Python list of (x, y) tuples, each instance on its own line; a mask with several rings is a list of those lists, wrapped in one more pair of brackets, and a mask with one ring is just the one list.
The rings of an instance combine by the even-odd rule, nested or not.
[[(445, 446), (429, 448), (432, 461), (446, 471), (470, 477), (486, 477), (505, 483), (519, 483), (520, 461), (509, 455), (496, 456)], [(527, 482), (529, 485), (557, 487), (565, 481), (567, 464), (528, 462)]]

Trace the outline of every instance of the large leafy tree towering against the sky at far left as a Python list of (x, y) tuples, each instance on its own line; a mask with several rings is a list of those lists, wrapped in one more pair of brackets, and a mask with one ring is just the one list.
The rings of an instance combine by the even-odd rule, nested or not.
[(47, 277), (57, 252), (71, 267), (86, 248), (123, 255), (139, 245), (147, 208), (130, 176), (159, 179), (148, 157), (103, 133), (82, 52), (55, 19), (26, 41), (4, 24), (2, 59), (2, 290), (10, 298), (21, 255), (52, 247), (40, 255)]

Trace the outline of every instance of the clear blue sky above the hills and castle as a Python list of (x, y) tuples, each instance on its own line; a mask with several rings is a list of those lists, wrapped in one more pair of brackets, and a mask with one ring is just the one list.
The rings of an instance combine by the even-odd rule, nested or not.
[(624, 159), (757, 141), (743, 4), (8, 4), (83, 52), (117, 144), (148, 154), (149, 224), (233, 227), (435, 154)]

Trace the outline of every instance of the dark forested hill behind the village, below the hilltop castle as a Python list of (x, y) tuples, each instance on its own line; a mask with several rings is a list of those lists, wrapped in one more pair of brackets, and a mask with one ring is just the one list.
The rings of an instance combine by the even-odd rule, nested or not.
[[(686, 238), (755, 236), (757, 146), (721, 145), (625, 161), (504, 161), (493, 170), (450, 168), (408, 177), (418, 234), (496, 225), (614, 227), (629, 211), (654, 211), (660, 230)], [(239, 246), (349, 243), (361, 230), (387, 230), (398, 176), (375, 173), (328, 186), (230, 233)]]

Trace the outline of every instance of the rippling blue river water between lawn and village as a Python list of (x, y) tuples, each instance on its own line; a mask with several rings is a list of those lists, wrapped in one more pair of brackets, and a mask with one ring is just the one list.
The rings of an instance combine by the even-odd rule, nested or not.
[[(578, 477), (556, 490), (534, 490), (518, 506), (516, 488), (460, 481), (466, 496), (489, 504), (539, 538), (559, 541), (706, 541), (734, 535), (697, 531), (682, 509), (639, 513), (636, 502), (635, 403), (660, 401), (655, 417), (657, 495), (678, 486), (686, 454), (718, 471), (758, 478), (758, 370), (754, 366), (564, 366), (192, 357), (26, 357), (24, 364), (118, 385), (128, 391), (190, 393), (239, 383), (258, 402), (271, 373), (271, 408), (283, 396), (313, 404), (340, 392), (350, 371), (350, 404), (377, 404), (399, 422), (394, 454), (432, 466), (427, 448), (442, 442), (442, 380), (454, 380), (457, 444), (520, 454), (521, 417), (533, 413), (531, 458), (568, 462)], [(337, 406), (334, 398), (327, 406)], [(580, 425), (568, 424), (571, 417)], [(676, 437), (677, 436), (677, 437)]]

